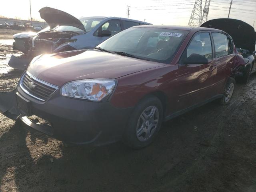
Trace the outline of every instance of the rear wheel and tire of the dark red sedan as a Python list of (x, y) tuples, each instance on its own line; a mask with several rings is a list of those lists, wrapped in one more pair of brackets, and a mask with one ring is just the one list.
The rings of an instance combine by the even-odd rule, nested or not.
[(229, 77), (224, 89), (224, 95), (220, 98), (220, 104), (227, 105), (230, 103), (232, 96), (234, 94), (234, 88), (236, 85), (236, 81), (234, 78)]

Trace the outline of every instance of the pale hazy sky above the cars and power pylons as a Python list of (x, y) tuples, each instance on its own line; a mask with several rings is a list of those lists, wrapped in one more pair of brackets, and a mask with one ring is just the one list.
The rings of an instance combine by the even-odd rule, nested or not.
[[(0, 15), (8, 18), (30, 18), (29, 0), (1, 0)], [(231, 0), (211, 0), (208, 20), (227, 18)], [(188, 25), (195, 0), (31, 0), (32, 18), (42, 20), (38, 10), (44, 6), (56, 8), (75, 17), (116, 16), (146, 21), (152, 24)], [(205, 0), (203, 0), (204, 8)], [(233, 0), (230, 18), (253, 25), (256, 20), (256, 0)], [(256, 28), (256, 21), (254, 24)]]

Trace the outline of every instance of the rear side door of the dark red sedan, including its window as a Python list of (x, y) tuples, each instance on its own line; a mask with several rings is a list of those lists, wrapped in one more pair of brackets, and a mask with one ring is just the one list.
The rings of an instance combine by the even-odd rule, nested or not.
[(232, 64), (234, 54), (233, 45), (228, 41), (228, 36), (221, 32), (212, 32), (214, 42), (214, 58), (216, 60), (216, 76), (214, 77), (214, 89), (217, 94), (224, 92), (226, 80), (230, 74), (229, 65)]

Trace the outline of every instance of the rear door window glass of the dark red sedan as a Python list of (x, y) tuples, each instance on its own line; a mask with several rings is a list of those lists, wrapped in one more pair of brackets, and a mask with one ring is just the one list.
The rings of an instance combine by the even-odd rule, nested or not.
[(216, 58), (228, 55), (228, 37), (222, 33), (212, 33), (212, 38), (214, 40)]

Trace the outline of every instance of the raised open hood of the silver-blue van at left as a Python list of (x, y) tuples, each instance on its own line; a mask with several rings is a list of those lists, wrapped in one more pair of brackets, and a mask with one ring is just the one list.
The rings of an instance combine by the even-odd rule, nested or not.
[(66, 25), (77, 27), (86, 32), (82, 22), (74, 16), (50, 7), (44, 7), (39, 10), (40, 16), (46, 21), (46, 23), (53, 29), (56, 26)]

